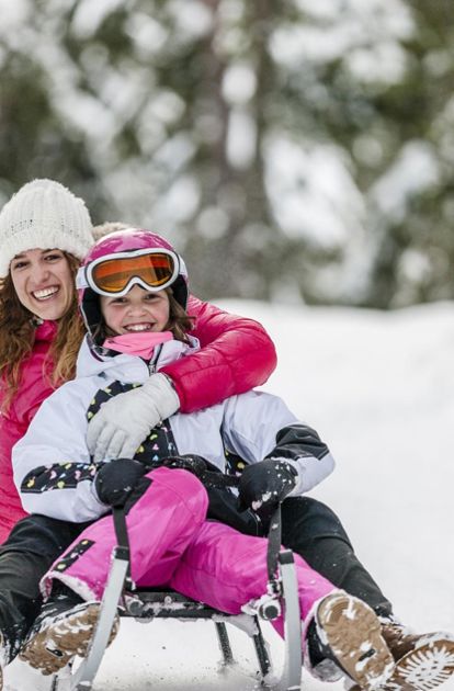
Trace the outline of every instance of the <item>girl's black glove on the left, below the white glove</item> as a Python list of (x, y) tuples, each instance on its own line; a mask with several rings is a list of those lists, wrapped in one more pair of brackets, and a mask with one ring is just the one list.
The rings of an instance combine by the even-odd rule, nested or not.
[(147, 468), (132, 458), (104, 463), (94, 476), (99, 500), (111, 507), (123, 507)]

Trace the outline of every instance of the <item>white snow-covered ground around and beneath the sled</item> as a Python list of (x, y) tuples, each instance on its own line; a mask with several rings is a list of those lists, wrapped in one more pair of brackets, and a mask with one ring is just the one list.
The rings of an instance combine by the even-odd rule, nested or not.
[[(454, 632), (454, 304), (391, 314), (223, 305), (273, 336), (280, 362), (266, 389), (320, 432), (338, 462), (313, 495), (341, 516), (396, 614), (421, 632)], [(249, 641), (234, 631), (232, 642), (239, 666), (224, 675), (209, 623), (123, 622), (94, 688), (254, 689)], [(279, 659), (273, 632), (270, 642)], [(303, 688), (342, 684), (304, 673)], [(47, 689), (22, 664), (7, 670), (5, 691)], [(454, 680), (443, 689), (454, 691)]]

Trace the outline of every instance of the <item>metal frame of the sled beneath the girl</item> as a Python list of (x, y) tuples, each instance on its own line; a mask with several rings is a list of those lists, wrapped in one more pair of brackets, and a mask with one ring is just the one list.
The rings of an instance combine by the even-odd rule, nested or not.
[[(101, 613), (90, 644), (88, 656), (77, 669), (69, 666), (55, 675), (50, 691), (90, 691), (100, 668), (109, 637), (122, 600), (124, 584), (128, 571), (128, 554), (122, 547), (114, 550), (111, 573), (101, 603)], [(296, 691), (300, 689), (302, 677), (302, 624), (293, 553), (287, 550), (279, 554), (279, 571), (282, 579), (282, 601), (284, 605), (285, 657), (281, 679), (272, 688), (276, 691)], [(133, 616), (145, 622), (152, 619), (175, 618), (179, 620), (212, 620), (216, 627), (223, 664), (235, 664), (230, 647), (227, 622), (234, 623), (236, 615), (214, 610), (202, 602), (195, 602), (171, 591), (137, 590), (126, 593), (125, 609), (120, 609), (121, 616)], [(251, 636), (259, 664), (261, 682), (266, 684), (266, 675), (271, 671), (271, 660), (260, 628), (259, 613), (239, 614), (240, 628)], [(249, 625), (245, 626), (245, 618)]]

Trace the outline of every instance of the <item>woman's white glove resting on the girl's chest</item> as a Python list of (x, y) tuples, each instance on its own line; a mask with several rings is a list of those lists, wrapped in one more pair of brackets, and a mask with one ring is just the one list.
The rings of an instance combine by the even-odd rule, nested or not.
[(102, 404), (87, 432), (94, 462), (133, 458), (150, 430), (179, 408), (178, 394), (164, 374), (152, 374), (143, 386)]

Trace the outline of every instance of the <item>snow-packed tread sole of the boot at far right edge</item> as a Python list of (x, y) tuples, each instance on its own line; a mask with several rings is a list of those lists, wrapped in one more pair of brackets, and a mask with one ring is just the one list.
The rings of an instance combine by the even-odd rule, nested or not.
[(407, 653), (396, 662), (386, 691), (430, 691), (454, 675), (454, 639), (440, 637)]

